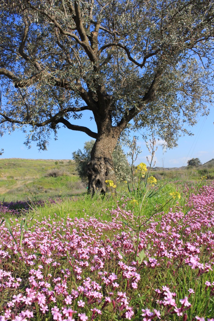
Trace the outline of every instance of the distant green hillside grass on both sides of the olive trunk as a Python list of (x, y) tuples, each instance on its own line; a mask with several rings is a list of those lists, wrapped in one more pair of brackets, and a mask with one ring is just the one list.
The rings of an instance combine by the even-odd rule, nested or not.
[[(52, 177), (56, 172), (57, 177)], [(179, 170), (153, 170), (161, 184), (170, 181), (199, 181), (201, 176), (214, 178), (213, 167)], [(0, 202), (24, 199), (48, 199), (84, 194), (87, 184), (82, 184), (74, 161), (0, 159)], [(117, 186), (124, 190), (125, 184)]]

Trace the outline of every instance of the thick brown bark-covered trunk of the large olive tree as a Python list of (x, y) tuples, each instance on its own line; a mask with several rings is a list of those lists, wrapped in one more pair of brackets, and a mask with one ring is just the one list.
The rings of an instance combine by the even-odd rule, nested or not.
[(113, 127), (97, 138), (91, 151), (91, 160), (87, 165), (88, 193), (105, 194), (106, 180), (112, 180), (116, 184), (112, 153), (118, 138), (119, 133)]

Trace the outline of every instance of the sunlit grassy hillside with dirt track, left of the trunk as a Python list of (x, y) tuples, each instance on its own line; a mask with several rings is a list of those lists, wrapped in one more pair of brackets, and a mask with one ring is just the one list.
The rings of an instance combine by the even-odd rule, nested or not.
[(71, 160), (0, 160), (0, 201), (47, 199), (86, 191)]

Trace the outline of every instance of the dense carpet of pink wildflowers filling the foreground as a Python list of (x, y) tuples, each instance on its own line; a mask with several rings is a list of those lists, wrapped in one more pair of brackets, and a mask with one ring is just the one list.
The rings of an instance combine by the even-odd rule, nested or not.
[(214, 185), (142, 215), (137, 252), (122, 201), (110, 221), (3, 221), (0, 320), (214, 320)]

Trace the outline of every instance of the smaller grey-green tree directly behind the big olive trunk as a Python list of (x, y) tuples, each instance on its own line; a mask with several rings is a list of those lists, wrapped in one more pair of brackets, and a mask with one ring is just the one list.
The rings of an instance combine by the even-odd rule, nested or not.
[[(72, 153), (73, 159), (76, 163), (76, 169), (82, 180), (87, 179), (87, 165), (90, 161), (90, 154), (94, 143), (95, 140), (91, 139), (90, 141), (84, 143), (83, 150), (78, 149), (76, 152)], [(125, 180), (126, 177), (130, 176), (131, 168), (128, 165), (126, 155), (119, 143), (117, 143), (116, 148), (112, 153), (112, 158), (114, 163), (114, 170), (116, 173), (116, 180)]]

